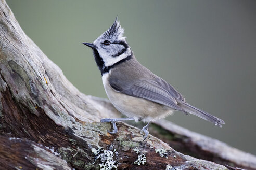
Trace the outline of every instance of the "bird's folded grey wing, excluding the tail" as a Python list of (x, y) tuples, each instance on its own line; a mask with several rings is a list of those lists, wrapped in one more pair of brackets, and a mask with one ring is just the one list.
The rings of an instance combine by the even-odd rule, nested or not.
[(132, 82), (112, 77), (109, 79), (109, 83), (118, 92), (145, 98), (146, 100), (169, 106), (175, 110), (181, 110), (177, 100), (185, 102), (185, 98), (178, 91), (159, 77), (155, 79), (137, 79)]

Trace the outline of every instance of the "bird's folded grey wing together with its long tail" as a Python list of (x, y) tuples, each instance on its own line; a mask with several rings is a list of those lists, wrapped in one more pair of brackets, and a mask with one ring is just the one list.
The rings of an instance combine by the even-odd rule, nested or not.
[(220, 127), (222, 124), (225, 124), (223, 120), (188, 104), (185, 101), (185, 98), (177, 90), (159, 77), (153, 80), (137, 79), (133, 81), (110, 78), (109, 83), (113, 89), (126, 95), (144, 98), (152, 102), (169, 106), (175, 110), (196, 115)]

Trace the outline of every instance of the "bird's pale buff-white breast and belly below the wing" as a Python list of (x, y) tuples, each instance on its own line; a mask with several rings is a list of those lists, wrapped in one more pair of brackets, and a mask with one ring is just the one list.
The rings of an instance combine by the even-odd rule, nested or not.
[(104, 76), (103, 84), (110, 102), (127, 117), (133, 117), (135, 121), (142, 119), (148, 122), (156, 118), (166, 117), (174, 111), (162, 104), (117, 92), (106, 82), (108, 75)]

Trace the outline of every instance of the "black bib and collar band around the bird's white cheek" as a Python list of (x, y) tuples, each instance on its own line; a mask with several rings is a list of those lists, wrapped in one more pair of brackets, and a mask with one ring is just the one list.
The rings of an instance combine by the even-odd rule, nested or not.
[(125, 62), (126, 60), (130, 60), (132, 58), (132, 55), (133, 53), (131, 53), (131, 55), (127, 56), (126, 58), (120, 60), (119, 62), (117, 63), (114, 63), (113, 65), (111, 66), (107, 66), (107, 67), (104, 67), (104, 61), (103, 59), (99, 56), (99, 53), (96, 49), (93, 49), (93, 55), (94, 55), (94, 59), (95, 59), (95, 62), (100, 70), (100, 73), (101, 73), (101, 76), (104, 75), (105, 73), (108, 73), (109, 70), (113, 67), (115, 67), (116, 65), (118, 64), (121, 64), (123, 62)]

